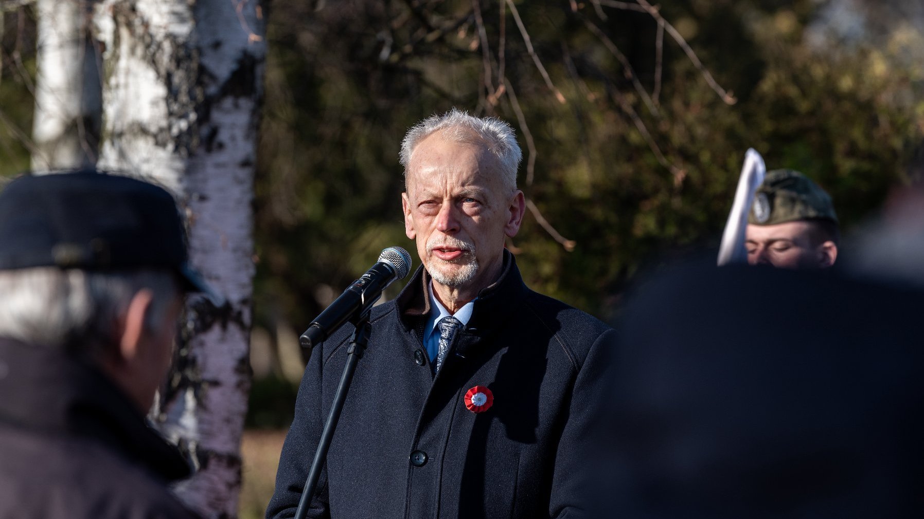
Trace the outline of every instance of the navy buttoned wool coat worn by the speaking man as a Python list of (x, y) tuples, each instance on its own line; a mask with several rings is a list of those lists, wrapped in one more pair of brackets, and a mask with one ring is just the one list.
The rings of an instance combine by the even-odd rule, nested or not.
[[(373, 308), (310, 517), (576, 517), (612, 331), (523, 284), (513, 257), (481, 291), (434, 377), (422, 344), (429, 276)], [(352, 327), (311, 353), (267, 517), (292, 517), (346, 364)], [(493, 404), (468, 410), (486, 386)]]

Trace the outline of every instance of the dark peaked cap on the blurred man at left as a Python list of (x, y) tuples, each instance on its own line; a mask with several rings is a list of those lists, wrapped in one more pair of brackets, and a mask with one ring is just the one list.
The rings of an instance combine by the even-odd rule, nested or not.
[(221, 299), (188, 264), (170, 193), (127, 176), (26, 175), (0, 192), (0, 270), (50, 266), (164, 269), (176, 272), (185, 290)]

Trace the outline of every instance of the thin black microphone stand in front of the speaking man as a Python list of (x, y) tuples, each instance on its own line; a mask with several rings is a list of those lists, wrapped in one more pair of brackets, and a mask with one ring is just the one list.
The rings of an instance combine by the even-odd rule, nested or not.
[(305, 489), (301, 491), (301, 498), (298, 500), (298, 509), (295, 512), (295, 519), (305, 519), (308, 513), (308, 505), (314, 496), (315, 487), (318, 484), (318, 478), (321, 477), (321, 469), (327, 460), (327, 450), (331, 447), (331, 440), (334, 438), (334, 429), (337, 428), (337, 421), (340, 420), (340, 412), (343, 411), (344, 402), (346, 401), (346, 392), (349, 391), (349, 384), (353, 380), (353, 373), (369, 344), (369, 336), (372, 331), (369, 323), (370, 309), (367, 309), (357, 318), (353, 324), (356, 326), (356, 332), (353, 332), (353, 339), (346, 348), (346, 366), (344, 366), (343, 375), (340, 377), (340, 385), (337, 386), (337, 392), (334, 393), (334, 403), (331, 404), (331, 412), (327, 415), (327, 422), (324, 424), (324, 430), (321, 433), (321, 441), (318, 442), (318, 449), (314, 452), (314, 461), (311, 462), (311, 468), (308, 472), (308, 479), (305, 480)]

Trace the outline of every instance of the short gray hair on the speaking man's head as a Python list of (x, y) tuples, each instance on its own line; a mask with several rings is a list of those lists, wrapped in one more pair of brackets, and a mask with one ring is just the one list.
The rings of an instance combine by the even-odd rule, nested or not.
[(504, 176), (505, 184), (512, 189), (517, 188), (517, 167), (523, 158), (523, 151), (520, 151), (517, 144), (514, 128), (496, 117), (475, 117), (456, 108), (444, 115), (427, 117), (407, 130), (407, 135), (401, 141), (400, 154), (405, 176), (417, 145), (437, 131), (443, 132), (444, 139), (454, 142), (483, 144), (501, 164), (500, 173)]

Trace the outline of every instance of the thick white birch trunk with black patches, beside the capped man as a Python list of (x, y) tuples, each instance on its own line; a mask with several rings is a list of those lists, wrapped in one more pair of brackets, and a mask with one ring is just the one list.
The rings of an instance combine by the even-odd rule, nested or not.
[(259, 0), (104, 0), (100, 165), (161, 183), (187, 211), (190, 257), (227, 297), (190, 299), (152, 416), (198, 472), (177, 488), (235, 517), (250, 385), (251, 199), (264, 43)]

